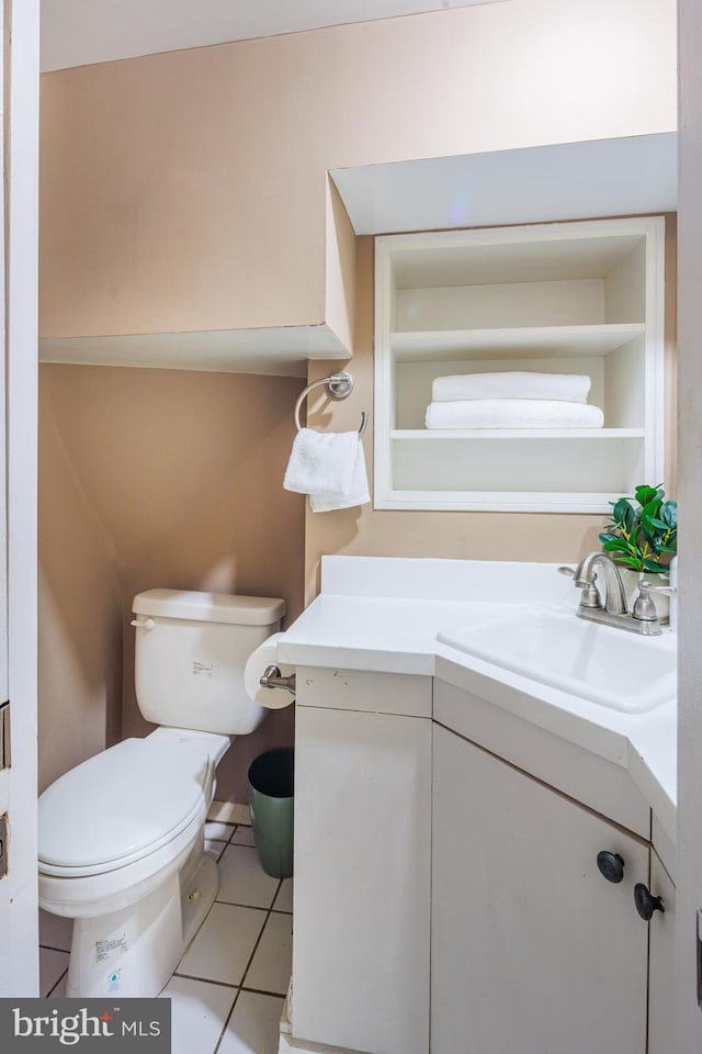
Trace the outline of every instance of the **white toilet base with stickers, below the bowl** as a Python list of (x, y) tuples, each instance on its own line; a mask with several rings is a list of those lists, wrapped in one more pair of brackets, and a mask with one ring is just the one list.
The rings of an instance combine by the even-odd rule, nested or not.
[(199, 850), (143, 900), (75, 920), (67, 997), (149, 997), (161, 991), (219, 888), (215, 861)]

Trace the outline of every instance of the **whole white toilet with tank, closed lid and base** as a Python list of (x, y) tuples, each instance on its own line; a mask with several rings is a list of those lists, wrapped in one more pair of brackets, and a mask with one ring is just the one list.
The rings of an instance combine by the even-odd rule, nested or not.
[(219, 886), (204, 852), (217, 764), (265, 710), (247, 659), (283, 601), (149, 590), (134, 598), (135, 686), (158, 727), (60, 776), (38, 801), (38, 898), (72, 918), (67, 997), (155, 996)]

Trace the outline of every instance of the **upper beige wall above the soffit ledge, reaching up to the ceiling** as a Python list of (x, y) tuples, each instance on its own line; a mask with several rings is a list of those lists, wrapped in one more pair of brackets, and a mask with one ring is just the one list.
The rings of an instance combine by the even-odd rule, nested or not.
[(47, 74), (41, 332), (319, 323), (327, 169), (675, 127), (675, 0), (506, 0)]

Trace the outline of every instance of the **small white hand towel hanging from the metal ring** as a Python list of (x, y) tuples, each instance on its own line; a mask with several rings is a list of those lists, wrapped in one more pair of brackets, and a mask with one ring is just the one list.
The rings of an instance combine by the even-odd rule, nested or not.
[(370, 502), (359, 433), (301, 428), (293, 442), (283, 486), (286, 491), (308, 494), (315, 513)]

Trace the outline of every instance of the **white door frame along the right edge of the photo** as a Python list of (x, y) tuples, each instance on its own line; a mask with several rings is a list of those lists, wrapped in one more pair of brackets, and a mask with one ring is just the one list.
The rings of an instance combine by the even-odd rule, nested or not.
[[(702, 1050), (697, 910), (702, 907), (702, 7), (679, 0), (678, 1054)], [(702, 937), (702, 933), (701, 933)]]

